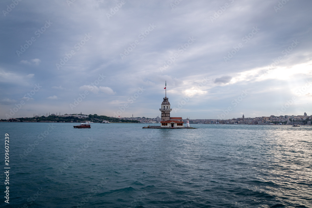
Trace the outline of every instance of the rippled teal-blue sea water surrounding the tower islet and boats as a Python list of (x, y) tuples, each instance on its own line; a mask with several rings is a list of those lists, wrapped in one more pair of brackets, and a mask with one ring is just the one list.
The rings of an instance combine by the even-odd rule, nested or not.
[(143, 126), (0, 123), (1, 206), (312, 207), (311, 126)]

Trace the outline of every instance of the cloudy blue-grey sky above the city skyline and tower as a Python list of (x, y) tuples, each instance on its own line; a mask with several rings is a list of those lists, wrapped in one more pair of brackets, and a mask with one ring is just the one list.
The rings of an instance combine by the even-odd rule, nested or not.
[[(312, 114), (309, 0), (3, 0), (0, 119)], [(166, 85), (165, 85), (166, 84)]]

